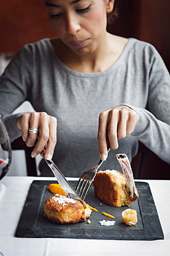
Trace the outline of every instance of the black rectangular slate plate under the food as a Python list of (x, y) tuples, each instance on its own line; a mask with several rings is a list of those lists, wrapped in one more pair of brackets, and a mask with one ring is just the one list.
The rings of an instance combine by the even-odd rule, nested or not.
[[(127, 206), (111, 207), (96, 198), (94, 188), (91, 186), (85, 201), (98, 212), (92, 212), (89, 218), (91, 223), (80, 222), (76, 224), (57, 224), (43, 216), (43, 204), (52, 196), (47, 186), (54, 181), (33, 181), (28, 197), (25, 201), (21, 219), (17, 227), (17, 237), (62, 237), (76, 239), (120, 239), (120, 240), (155, 240), (164, 239), (156, 205), (149, 184), (136, 182), (139, 199), (131, 205), (138, 214), (136, 226), (126, 226), (122, 221), (121, 213)], [(57, 182), (56, 182), (57, 183)], [(70, 181), (74, 186), (77, 181)], [(114, 215), (115, 219), (105, 217), (101, 212)], [(101, 226), (99, 221), (115, 220), (114, 226)]]

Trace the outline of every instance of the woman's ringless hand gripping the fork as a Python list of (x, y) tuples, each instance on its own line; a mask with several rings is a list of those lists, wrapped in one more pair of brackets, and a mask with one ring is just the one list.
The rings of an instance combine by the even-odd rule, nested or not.
[(98, 147), (102, 160), (107, 158), (107, 145), (111, 149), (118, 148), (118, 138), (131, 134), (138, 121), (134, 109), (120, 105), (100, 113), (98, 123)]

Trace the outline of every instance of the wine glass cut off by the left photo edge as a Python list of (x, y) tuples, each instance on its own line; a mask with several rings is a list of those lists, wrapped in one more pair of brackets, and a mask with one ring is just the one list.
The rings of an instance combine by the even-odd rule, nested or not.
[(12, 149), (8, 131), (0, 115), (0, 180), (10, 169)]

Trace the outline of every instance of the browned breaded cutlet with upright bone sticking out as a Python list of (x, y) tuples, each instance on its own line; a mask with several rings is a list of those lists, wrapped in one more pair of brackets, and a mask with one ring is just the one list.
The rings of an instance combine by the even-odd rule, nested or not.
[(110, 206), (131, 205), (138, 199), (131, 166), (125, 154), (118, 154), (116, 157), (124, 174), (116, 170), (98, 172), (94, 179), (94, 192), (98, 199)]

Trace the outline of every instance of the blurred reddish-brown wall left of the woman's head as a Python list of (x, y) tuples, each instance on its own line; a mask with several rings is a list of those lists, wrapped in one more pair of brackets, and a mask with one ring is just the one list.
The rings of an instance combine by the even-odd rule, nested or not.
[(43, 0), (0, 0), (0, 51), (53, 36)]

